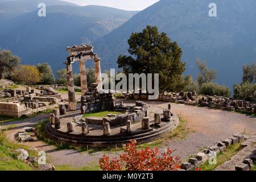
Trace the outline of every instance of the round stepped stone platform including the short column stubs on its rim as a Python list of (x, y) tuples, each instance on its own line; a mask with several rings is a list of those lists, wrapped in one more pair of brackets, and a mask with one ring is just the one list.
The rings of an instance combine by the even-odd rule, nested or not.
[(46, 133), (61, 143), (90, 147), (121, 146), (130, 139), (150, 142), (179, 125), (179, 117), (169, 110), (170, 107), (169, 104), (168, 109), (155, 113), (153, 118), (148, 115), (148, 105), (142, 101), (136, 101), (133, 106), (125, 106), (122, 102), (115, 104), (114, 110), (123, 111), (123, 114), (108, 114), (104, 118), (83, 118), (78, 114), (68, 117), (61, 115), (59, 108), (49, 115)]

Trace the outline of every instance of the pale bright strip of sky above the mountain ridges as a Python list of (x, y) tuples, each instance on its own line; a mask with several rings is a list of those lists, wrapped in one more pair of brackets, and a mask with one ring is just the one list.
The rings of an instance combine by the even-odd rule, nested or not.
[(61, 0), (76, 3), (80, 6), (86, 5), (101, 5), (114, 7), (117, 9), (128, 10), (128, 11), (141, 11), (146, 9), (148, 6), (153, 5), (159, 0)]

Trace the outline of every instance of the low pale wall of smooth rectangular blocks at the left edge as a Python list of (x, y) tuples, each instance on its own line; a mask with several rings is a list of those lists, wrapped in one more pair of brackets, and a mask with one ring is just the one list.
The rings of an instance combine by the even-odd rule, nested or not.
[(28, 110), (30, 109), (27, 109), (25, 105), (0, 102), (0, 115), (7, 115), (10, 117), (19, 118), (23, 114), (27, 113)]

